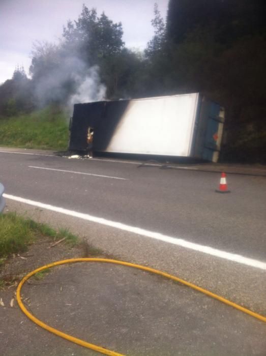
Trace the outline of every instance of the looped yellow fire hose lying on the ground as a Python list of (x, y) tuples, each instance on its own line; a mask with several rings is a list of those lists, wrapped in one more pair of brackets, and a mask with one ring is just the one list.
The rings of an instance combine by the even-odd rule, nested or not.
[(98, 352), (101, 352), (102, 354), (105, 354), (105, 355), (110, 355), (110, 356), (124, 356), (122, 355), (121, 353), (117, 353), (115, 351), (111, 351), (111, 350), (108, 350), (104, 347), (101, 347), (101, 346), (97, 346), (97, 345), (94, 345), (94, 344), (90, 344), (86, 341), (83, 341), (81, 339), (78, 339), (78, 338), (75, 338), (71, 335), (68, 335), (68, 334), (65, 334), (59, 330), (56, 330), (52, 327), (49, 327), (49, 325), (45, 324), (44, 322), (42, 322), (41, 320), (37, 319), (34, 315), (32, 315), (31, 313), (29, 313), (29, 311), (25, 308), (24, 304), (22, 303), (21, 301), (21, 296), (20, 296), (20, 291), (21, 291), (21, 288), (23, 286), (23, 284), (30, 278), (32, 277), (33, 275), (35, 275), (36, 273), (38, 272), (41, 272), (43, 270), (46, 270), (48, 268), (51, 268), (51, 267), (54, 267), (54, 266), (58, 266), (60, 264), (65, 264), (65, 263), (73, 263), (73, 262), (108, 262), (108, 263), (115, 263), (115, 264), (121, 264), (121, 265), (124, 265), (124, 266), (130, 266), (130, 267), (134, 267), (134, 268), (137, 268), (139, 270), (143, 270), (143, 271), (147, 271), (147, 272), (152, 272), (152, 273), (155, 273), (157, 275), (160, 275), (160, 276), (163, 276), (163, 277), (166, 277), (166, 278), (169, 278), (169, 279), (172, 279), (176, 282), (180, 282), (188, 287), (191, 287), (193, 289), (196, 289), (198, 291), (200, 291), (201, 293), (204, 293), (206, 295), (209, 295), (209, 296), (212, 296), (212, 298), (215, 298), (217, 299), (218, 301), (222, 302), (222, 303), (225, 303), (227, 305), (230, 305), (231, 307), (235, 308), (235, 309), (238, 309), (238, 310), (241, 310), (243, 311), (244, 313), (247, 313), (251, 316), (254, 316), (255, 318), (259, 319), (259, 320), (262, 320), (264, 322), (266, 322), (266, 317), (262, 316), (262, 315), (259, 315), (257, 313), (254, 313), (253, 311), (249, 310), (249, 309), (246, 309), (246, 308), (243, 308), (241, 307), (240, 305), (238, 304), (235, 304), (233, 302), (230, 302), (228, 301), (227, 299), (223, 298), (222, 296), (220, 295), (217, 295), (215, 293), (212, 293), (210, 292), (209, 290), (206, 290), (206, 289), (203, 289), (203, 288), (200, 288), (198, 286), (196, 286), (195, 284), (192, 284), (192, 283), (189, 283), (181, 278), (178, 278), (178, 277), (175, 277), (175, 276), (172, 276), (172, 275), (169, 275), (168, 273), (165, 273), (165, 272), (162, 272), (162, 271), (158, 271), (158, 270), (154, 270), (153, 268), (149, 268), (149, 267), (145, 267), (145, 266), (142, 266), (142, 265), (139, 265), (139, 264), (134, 264), (134, 263), (130, 263), (130, 262), (124, 262), (124, 261), (116, 261), (116, 260), (113, 260), (113, 259), (106, 259), (106, 258), (72, 258), (72, 259), (65, 259), (65, 260), (62, 260), (62, 261), (57, 261), (57, 262), (53, 262), (53, 263), (49, 263), (49, 264), (46, 264), (40, 268), (38, 268), (37, 270), (34, 270), (30, 273), (28, 273), (22, 280), (21, 282), (19, 283), (18, 287), (17, 287), (17, 302), (18, 302), (18, 305), (19, 307), (21, 308), (21, 310), (23, 311), (23, 313), (26, 314), (26, 316), (31, 319), (32, 321), (34, 321), (36, 324), (38, 324), (40, 327), (42, 327), (43, 329), (46, 329), (48, 330), (49, 332), (55, 334), (55, 335), (58, 335), (58, 336), (61, 336), (62, 338), (64, 339), (67, 339), (69, 341), (72, 341), (78, 345), (81, 345), (81, 346), (84, 346), (84, 347), (87, 347), (87, 348), (90, 348), (92, 350), (95, 350), (95, 351), (98, 351)]

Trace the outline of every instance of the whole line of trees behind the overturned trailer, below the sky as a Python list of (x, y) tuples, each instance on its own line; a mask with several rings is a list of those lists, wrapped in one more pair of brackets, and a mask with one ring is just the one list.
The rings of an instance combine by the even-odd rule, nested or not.
[(262, 0), (169, 0), (164, 21), (155, 4), (154, 36), (134, 51), (121, 22), (83, 5), (59, 44), (35, 43), (31, 79), (16, 68), (0, 86), (0, 115), (64, 105), (93, 67), (108, 99), (201, 92), (221, 103), (222, 159), (265, 162), (264, 9)]

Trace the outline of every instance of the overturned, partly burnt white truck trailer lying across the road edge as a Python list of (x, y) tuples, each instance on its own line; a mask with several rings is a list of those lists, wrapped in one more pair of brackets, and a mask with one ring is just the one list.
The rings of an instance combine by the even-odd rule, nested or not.
[(218, 161), (224, 109), (199, 93), (75, 104), (69, 150)]

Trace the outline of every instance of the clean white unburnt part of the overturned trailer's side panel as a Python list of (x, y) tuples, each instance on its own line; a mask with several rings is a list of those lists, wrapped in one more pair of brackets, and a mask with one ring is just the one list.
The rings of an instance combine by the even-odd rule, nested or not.
[(106, 152), (189, 156), (198, 94), (131, 100)]

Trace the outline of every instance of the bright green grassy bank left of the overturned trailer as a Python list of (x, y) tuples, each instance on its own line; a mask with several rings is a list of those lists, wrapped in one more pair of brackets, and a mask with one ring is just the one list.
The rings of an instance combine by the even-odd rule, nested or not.
[(0, 145), (64, 151), (68, 148), (68, 117), (48, 106), (29, 114), (0, 119)]

